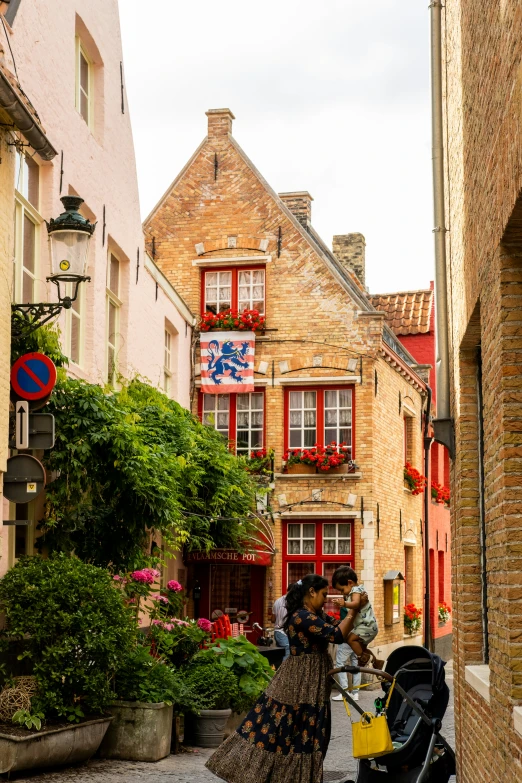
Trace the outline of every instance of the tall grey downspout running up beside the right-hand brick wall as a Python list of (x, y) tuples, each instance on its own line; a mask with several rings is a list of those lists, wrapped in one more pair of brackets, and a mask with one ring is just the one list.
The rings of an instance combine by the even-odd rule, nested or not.
[(444, 209), (444, 135), (442, 118), (442, 9), (430, 3), (431, 17), (431, 122), (433, 162), (433, 216), (435, 228), (436, 389), (434, 437), (455, 456), (455, 430), (450, 412), (448, 294), (446, 281), (446, 221)]

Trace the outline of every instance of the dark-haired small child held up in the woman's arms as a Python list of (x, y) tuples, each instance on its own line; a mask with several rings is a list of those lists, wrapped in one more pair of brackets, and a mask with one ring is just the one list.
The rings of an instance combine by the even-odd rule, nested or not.
[(372, 658), (374, 669), (382, 669), (384, 661), (379, 660), (368, 650), (368, 645), (379, 633), (379, 626), (371, 603), (361, 607), (361, 597), (364, 585), (358, 583), (357, 574), (349, 566), (340, 566), (332, 577), (332, 586), (343, 594), (343, 599), (335, 603), (346, 608), (357, 609), (353, 631), (348, 637), (348, 644), (357, 656), (359, 666), (366, 666)]

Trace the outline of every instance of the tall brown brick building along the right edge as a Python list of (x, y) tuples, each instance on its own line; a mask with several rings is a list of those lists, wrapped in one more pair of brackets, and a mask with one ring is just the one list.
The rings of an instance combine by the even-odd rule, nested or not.
[(522, 780), (522, 114), (518, 0), (445, 2), (457, 761)]

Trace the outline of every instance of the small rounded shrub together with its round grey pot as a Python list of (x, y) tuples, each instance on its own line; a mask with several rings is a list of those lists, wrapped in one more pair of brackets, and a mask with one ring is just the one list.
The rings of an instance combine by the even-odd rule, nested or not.
[(201, 748), (217, 748), (223, 741), (232, 706), (238, 703), (236, 675), (215, 656), (195, 659), (184, 682), (193, 697), (195, 714), (185, 716), (185, 738)]

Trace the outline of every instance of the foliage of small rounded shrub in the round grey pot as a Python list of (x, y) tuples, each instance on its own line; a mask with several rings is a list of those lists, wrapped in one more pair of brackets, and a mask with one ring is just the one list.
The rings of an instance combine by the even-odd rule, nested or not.
[(195, 659), (183, 678), (195, 710), (234, 709), (239, 700), (237, 677), (212, 658)]

